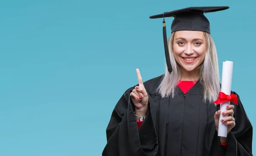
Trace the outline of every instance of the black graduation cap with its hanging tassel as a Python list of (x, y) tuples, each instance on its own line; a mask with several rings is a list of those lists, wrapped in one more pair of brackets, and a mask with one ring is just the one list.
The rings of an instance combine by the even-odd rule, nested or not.
[(169, 57), (169, 50), (166, 37), (166, 25), (165, 17), (174, 17), (172, 21), (172, 32), (180, 30), (191, 31), (204, 31), (210, 34), (209, 20), (204, 16), (205, 13), (216, 12), (229, 9), (228, 6), (202, 6), (202, 7), (187, 7), (184, 9), (174, 10), (170, 12), (164, 12), (163, 14), (157, 14), (150, 16), (149, 18), (163, 18), (163, 43), (166, 56), (166, 64), (169, 73), (172, 73), (172, 65)]

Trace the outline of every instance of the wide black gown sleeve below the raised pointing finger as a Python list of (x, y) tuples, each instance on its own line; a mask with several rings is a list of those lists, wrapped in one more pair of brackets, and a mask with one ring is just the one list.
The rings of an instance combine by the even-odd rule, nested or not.
[(117, 102), (106, 129), (107, 145), (102, 156), (156, 156), (157, 134), (151, 116), (153, 100), (149, 96), (145, 120), (137, 128), (134, 105), (130, 99), (133, 88), (129, 88)]

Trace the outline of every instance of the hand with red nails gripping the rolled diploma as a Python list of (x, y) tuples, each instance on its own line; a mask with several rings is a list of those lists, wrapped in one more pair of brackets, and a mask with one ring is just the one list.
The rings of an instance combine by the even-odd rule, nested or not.
[(234, 114), (233, 109), (234, 109), (234, 105), (228, 105), (227, 111), (224, 111), (221, 114), (221, 111), (219, 110), (215, 113), (214, 119), (215, 119), (215, 126), (216, 126), (217, 132), (218, 132), (218, 123), (219, 123), (220, 115), (224, 116), (224, 115), (228, 114), (227, 118), (221, 119), (221, 122), (223, 122), (225, 125), (227, 125), (227, 133), (229, 133), (230, 130), (232, 130), (232, 128), (235, 127), (236, 122), (235, 122), (235, 118), (233, 117), (233, 114)]

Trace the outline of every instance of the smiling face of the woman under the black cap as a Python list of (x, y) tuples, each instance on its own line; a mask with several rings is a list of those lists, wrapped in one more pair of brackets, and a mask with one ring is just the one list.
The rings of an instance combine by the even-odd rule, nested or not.
[(182, 71), (194, 71), (204, 61), (206, 47), (202, 31), (175, 32), (173, 53)]

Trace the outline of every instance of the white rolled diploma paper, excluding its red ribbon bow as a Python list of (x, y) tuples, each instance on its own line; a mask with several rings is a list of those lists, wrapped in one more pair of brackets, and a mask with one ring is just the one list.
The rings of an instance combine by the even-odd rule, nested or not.
[[(223, 62), (222, 66), (222, 80), (221, 80), (221, 92), (230, 95), (231, 93), (231, 82), (232, 82), (232, 74), (233, 74), (233, 62), (226, 61)], [(220, 104), (221, 113), (227, 111), (227, 105), (230, 102), (223, 102)], [(228, 115), (220, 115), (219, 126), (218, 126), (218, 136), (227, 137), (227, 125), (221, 122), (221, 119), (228, 117)]]

